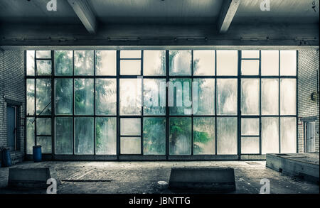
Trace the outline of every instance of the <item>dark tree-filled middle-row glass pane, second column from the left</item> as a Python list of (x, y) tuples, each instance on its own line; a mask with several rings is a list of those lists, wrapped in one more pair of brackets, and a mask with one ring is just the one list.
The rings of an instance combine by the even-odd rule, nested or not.
[(37, 79), (36, 80), (36, 110), (37, 115), (51, 114), (51, 80)]

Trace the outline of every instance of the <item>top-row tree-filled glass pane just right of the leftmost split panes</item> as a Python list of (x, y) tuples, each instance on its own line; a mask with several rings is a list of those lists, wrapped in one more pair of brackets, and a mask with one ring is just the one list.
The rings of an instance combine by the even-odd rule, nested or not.
[(73, 75), (72, 50), (55, 50), (55, 75)]

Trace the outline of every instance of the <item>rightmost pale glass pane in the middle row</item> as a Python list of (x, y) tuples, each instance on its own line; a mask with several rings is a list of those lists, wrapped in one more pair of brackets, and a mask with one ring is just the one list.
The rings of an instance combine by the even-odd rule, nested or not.
[(280, 80), (280, 114), (295, 115), (296, 112), (296, 79)]

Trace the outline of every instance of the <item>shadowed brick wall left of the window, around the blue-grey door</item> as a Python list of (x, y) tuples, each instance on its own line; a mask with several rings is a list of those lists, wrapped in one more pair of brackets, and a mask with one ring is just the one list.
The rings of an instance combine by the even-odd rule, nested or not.
[[(25, 155), (25, 70), (22, 50), (0, 50), (0, 147), (6, 147), (6, 106), (18, 106), (17, 150), (11, 160), (18, 163)], [(21, 106), (20, 106), (21, 104)]]

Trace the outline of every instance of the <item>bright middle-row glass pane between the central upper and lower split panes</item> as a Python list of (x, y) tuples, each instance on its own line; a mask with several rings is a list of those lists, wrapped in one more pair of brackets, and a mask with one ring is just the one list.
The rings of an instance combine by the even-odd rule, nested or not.
[(120, 79), (120, 114), (141, 115), (142, 79)]

